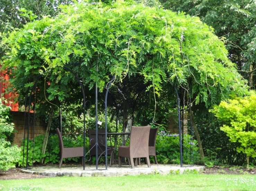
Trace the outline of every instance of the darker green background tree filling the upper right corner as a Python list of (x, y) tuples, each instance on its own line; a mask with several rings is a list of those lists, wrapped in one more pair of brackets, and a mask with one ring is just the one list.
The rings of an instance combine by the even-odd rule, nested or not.
[(224, 38), (229, 51), (229, 59), (254, 86), (255, 62), (255, 22), (254, 0), (160, 0), (166, 9), (183, 11), (196, 15), (214, 28), (219, 38)]

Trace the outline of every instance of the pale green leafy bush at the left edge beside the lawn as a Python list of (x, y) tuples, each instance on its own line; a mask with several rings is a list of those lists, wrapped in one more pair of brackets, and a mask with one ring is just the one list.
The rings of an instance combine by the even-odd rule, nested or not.
[(5, 114), (10, 108), (2, 101), (6, 102), (6, 100), (0, 99), (0, 170), (8, 170), (14, 168), (16, 162), (19, 161), (20, 157), (17, 153), (20, 149), (17, 146), (11, 147), (11, 143), (6, 140), (6, 133), (10, 134), (14, 131), (14, 124), (7, 122), (8, 115)]

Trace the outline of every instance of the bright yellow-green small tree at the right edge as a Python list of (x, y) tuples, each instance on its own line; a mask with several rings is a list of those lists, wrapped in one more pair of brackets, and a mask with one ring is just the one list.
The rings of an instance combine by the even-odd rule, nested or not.
[(220, 120), (228, 122), (220, 129), (227, 133), (231, 142), (239, 142), (237, 152), (247, 156), (246, 168), (249, 168), (249, 158), (256, 157), (256, 93), (250, 92), (244, 98), (229, 99), (222, 101), (214, 107), (212, 112)]

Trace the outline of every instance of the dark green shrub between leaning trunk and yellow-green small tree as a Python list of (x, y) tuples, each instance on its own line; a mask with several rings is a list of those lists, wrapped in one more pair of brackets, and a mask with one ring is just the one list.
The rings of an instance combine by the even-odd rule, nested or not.
[(223, 121), (208, 114), (204, 117), (198, 116), (196, 123), (200, 132), (205, 161), (210, 161), (215, 165), (243, 165), (246, 163), (245, 154), (236, 152), (239, 143), (230, 142), (226, 133), (220, 130)]

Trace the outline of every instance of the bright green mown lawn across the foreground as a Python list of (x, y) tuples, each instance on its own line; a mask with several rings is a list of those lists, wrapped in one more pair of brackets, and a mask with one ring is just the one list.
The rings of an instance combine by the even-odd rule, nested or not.
[(256, 191), (256, 175), (172, 174), (2, 180), (0, 190), (241, 190)]

